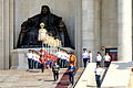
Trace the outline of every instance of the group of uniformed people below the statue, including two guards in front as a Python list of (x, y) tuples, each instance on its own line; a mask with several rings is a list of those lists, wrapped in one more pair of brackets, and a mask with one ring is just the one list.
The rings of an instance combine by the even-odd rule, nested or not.
[(55, 54), (48, 54), (43, 50), (40, 53), (29, 50), (27, 53), (29, 69), (52, 68), (54, 81), (59, 79), (59, 69), (68, 67), (70, 82), (74, 84), (74, 73), (76, 65), (76, 56), (73, 53), (68, 53), (65, 50), (58, 48)]

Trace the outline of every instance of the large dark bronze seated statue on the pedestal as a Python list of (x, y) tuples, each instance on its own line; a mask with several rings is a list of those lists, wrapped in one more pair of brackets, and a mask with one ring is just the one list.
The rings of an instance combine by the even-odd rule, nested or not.
[(62, 18), (51, 13), (48, 6), (42, 6), (41, 13), (29, 18), (21, 24), (21, 32), (17, 44), (18, 48), (42, 47), (42, 42), (38, 41), (41, 22), (45, 24), (44, 29), (47, 29), (48, 34), (61, 40), (62, 46), (71, 47)]

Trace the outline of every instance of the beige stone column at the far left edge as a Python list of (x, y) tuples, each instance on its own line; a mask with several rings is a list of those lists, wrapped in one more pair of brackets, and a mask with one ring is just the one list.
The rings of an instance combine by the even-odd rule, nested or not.
[(0, 0), (0, 69), (9, 69), (9, 0)]

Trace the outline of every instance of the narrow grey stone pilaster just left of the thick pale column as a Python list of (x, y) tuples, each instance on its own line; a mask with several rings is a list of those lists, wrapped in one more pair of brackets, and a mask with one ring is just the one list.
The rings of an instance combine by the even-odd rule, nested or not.
[(82, 65), (82, 0), (73, 0), (74, 2), (74, 23), (75, 23), (75, 54), (78, 56), (78, 66)]

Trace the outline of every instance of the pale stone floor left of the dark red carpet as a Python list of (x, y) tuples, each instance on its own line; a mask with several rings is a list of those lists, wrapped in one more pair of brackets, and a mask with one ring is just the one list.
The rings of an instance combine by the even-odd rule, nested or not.
[[(65, 70), (60, 70), (60, 78)], [(0, 88), (55, 88), (58, 81), (53, 81), (51, 69), (45, 69), (44, 73), (39, 69), (0, 70)]]

